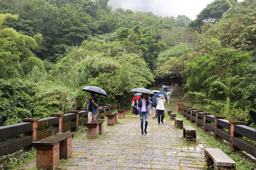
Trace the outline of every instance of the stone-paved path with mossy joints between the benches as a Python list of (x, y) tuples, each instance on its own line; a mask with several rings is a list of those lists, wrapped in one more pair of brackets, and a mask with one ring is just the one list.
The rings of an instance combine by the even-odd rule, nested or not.
[[(204, 149), (196, 151), (199, 143), (206, 146), (204, 141), (197, 137), (194, 144), (184, 142), (182, 130), (175, 128), (174, 121), (168, 116), (161, 125), (150, 116), (148, 134), (144, 136), (141, 136), (140, 118), (133, 118), (131, 114), (119, 119), (120, 124), (114, 127), (106, 126), (106, 123), (101, 139), (87, 139), (86, 133), (74, 138), (73, 158), (61, 162), (58, 168), (199, 170), (204, 167)], [(183, 152), (183, 147), (187, 151)]]

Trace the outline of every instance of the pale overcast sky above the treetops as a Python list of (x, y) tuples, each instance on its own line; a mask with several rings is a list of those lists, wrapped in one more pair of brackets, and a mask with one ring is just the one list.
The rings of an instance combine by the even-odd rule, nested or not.
[[(238, 0), (241, 2), (243, 0)], [(191, 20), (214, 0), (110, 0), (113, 8), (121, 7), (133, 11), (153, 12), (158, 16), (185, 15)]]

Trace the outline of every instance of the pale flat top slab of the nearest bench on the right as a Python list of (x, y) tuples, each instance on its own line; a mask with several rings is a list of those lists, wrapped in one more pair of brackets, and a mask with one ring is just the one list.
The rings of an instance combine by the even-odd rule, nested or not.
[(232, 160), (219, 148), (204, 148), (205, 154), (207, 154), (216, 166), (228, 166), (236, 168), (236, 162)]

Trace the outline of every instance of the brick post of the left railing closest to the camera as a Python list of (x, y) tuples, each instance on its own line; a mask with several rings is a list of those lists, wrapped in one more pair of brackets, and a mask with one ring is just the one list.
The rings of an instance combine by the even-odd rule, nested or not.
[[(23, 121), (23, 122), (32, 122), (32, 124), (33, 124), (31, 131), (24, 133), (25, 136), (32, 136), (32, 138), (33, 138), (32, 142), (35, 142), (35, 141), (38, 140), (38, 136), (37, 136), (37, 130), (38, 130), (38, 122), (37, 121), (38, 120), (39, 120), (39, 118), (24, 118), (24, 119), (21, 119), (21, 121)], [(25, 146), (24, 150), (30, 150), (31, 148), (32, 148), (32, 145)]]

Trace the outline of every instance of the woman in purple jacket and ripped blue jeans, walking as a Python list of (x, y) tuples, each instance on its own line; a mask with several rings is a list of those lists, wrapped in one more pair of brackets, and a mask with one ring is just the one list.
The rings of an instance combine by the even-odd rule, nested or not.
[[(148, 98), (148, 95), (146, 93), (142, 93), (141, 97), (139, 98), (139, 116), (141, 118), (141, 135), (147, 134), (147, 123), (148, 123), (148, 118), (149, 118), (149, 109), (148, 105), (150, 105), (150, 101)], [(143, 116), (145, 117), (145, 130), (143, 132)]]

